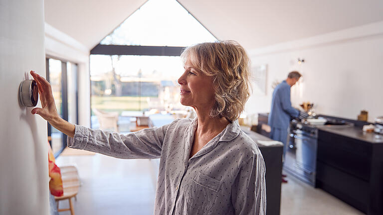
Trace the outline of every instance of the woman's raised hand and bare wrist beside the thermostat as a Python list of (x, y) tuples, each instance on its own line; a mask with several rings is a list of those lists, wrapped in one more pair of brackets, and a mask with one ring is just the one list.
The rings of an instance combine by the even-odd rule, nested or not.
[(73, 137), (75, 126), (62, 119), (57, 112), (56, 105), (52, 94), (52, 88), (48, 81), (39, 76), (34, 71), (30, 71), (33, 79), (38, 86), (38, 93), (40, 94), (41, 108), (33, 108), (32, 114), (39, 114), (45, 120), (49, 122), (57, 130), (65, 133), (66, 135)]

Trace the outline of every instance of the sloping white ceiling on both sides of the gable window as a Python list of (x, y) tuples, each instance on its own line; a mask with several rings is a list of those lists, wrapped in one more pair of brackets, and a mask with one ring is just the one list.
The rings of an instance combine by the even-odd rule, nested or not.
[[(382, 0), (178, 0), (220, 40), (247, 50), (383, 20)], [(89, 50), (146, 0), (45, 0), (45, 22)]]

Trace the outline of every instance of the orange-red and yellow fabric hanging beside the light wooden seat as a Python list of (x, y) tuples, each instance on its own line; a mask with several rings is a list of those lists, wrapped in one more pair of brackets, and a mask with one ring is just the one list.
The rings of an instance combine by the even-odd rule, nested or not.
[(53, 196), (62, 196), (64, 194), (62, 188), (62, 179), (60, 168), (55, 164), (52, 148), (48, 143), (48, 167), (49, 167), (49, 190)]

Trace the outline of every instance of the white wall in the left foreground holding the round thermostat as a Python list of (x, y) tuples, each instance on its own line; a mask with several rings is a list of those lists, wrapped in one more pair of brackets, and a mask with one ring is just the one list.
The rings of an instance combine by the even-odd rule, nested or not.
[(0, 215), (49, 214), (46, 121), (18, 102), (30, 70), (45, 76), (44, 1), (0, 0)]

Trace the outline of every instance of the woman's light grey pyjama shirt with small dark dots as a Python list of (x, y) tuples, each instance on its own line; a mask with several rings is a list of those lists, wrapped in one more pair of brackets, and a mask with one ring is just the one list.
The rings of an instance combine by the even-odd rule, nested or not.
[(155, 215), (265, 215), (265, 164), (238, 121), (190, 152), (197, 119), (122, 135), (76, 125), (71, 148), (124, 158), (160, 158)]

